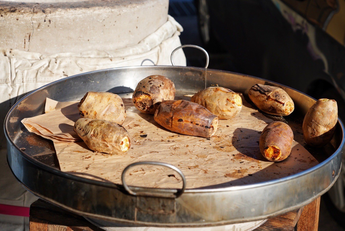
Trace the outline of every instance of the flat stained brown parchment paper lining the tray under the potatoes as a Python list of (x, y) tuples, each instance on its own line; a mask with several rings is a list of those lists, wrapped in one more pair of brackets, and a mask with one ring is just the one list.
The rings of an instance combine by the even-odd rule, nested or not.
[[(273, 120), (244, 99), (240, 114), (230, 120), (220, 120), (215, 136), (209, 139), (168, 131), (157, 124), (152, 115), (139, 112), (131, 99), (123, 101), (127, 116), (135, 119), (126, 128), (131, 139), (130, 150), (125, 154), (109, 155), (94, 153), (83, 142), (55, 142), (63, 172), (121, 184), (121, 173), (129, 164), (160, 161), (181, 169), (187, 179), (187, 188), (221, 188), (281, 178), (318, 164), (296, 141), (286, 160), (266, 160), (259, 151), (259, 137), (267, 123)], [(129, 169), (126, 182), (159, 188), (182, 185), (181, 177), (173, 170), (148, 165)]]

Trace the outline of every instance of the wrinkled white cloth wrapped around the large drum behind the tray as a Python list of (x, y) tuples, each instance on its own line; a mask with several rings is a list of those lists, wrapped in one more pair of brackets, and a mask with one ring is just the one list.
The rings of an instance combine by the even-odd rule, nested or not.
[[(181, 45), (181, 31), (183, 28), (168, 16), (164, 25), (138, 44), (117, 50), (45, 56), (0, 47), (0, 124), (4, 123), (12, 105), (25, 94), (61, 78), (113, 67), (171, 65), (171, 52)], [(181, 49), (174, 54), (174, 62), (177, 66), (186, 66)], [(0, 139), (0, 204), (29, 207), (37, 197), (28, 193), (12, 175), (7, 164), (3, 129), (0, 129)], [(25, 228), (23, 223), (26, 224)], [(0, 215), (0, 230), (29, 230), (28, 218)]]

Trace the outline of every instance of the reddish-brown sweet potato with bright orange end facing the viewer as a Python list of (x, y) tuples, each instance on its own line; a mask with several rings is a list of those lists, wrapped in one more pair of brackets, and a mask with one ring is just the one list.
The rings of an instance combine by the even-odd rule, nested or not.
[(270, 161), (281, 161), (291, 153), (294, 133), (286, 123), (275, 121), (269, 123), (260, 136), (261, 154)]

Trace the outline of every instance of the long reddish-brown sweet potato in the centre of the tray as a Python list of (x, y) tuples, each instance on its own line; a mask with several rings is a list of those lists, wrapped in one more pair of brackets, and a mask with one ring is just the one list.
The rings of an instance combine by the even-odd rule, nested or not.
[(170, 131), (205, 138), (214, 135), (219, 122), (217, 115), (200, 104), (185, 100), (162, 101), (154, 119)]

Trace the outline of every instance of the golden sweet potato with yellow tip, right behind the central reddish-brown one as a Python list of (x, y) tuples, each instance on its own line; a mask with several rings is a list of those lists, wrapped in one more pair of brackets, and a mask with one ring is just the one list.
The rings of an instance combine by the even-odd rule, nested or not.
[(242, 109), (241, 96), (219, 86), (207, 87), (195, 93), (190, 101), (204, 106), (222, 120), (234, 118)]

